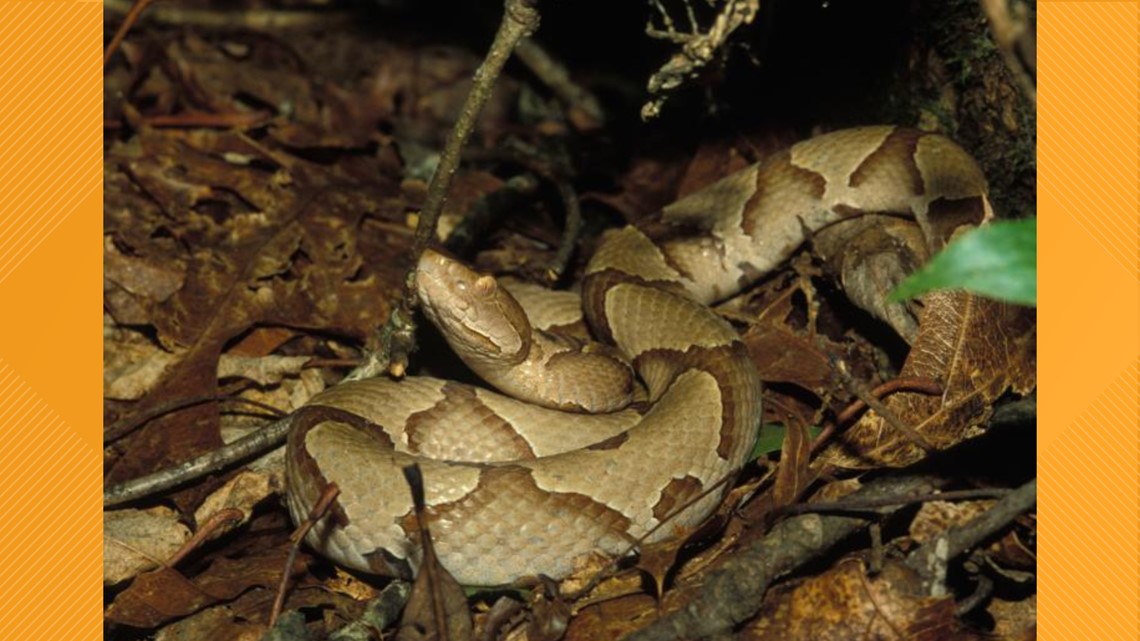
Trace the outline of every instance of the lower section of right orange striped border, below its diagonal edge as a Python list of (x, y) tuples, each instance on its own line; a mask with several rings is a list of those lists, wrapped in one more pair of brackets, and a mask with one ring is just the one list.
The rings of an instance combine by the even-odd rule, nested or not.
[(1140, 366), (1037, 456), (1042, 639), (1137, 639)]

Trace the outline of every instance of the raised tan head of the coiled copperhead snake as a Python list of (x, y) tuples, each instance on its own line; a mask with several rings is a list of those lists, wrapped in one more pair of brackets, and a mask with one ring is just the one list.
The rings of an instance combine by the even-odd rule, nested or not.
[(467, 365), (518, 362), (529, 352), (527, 314), (492, 276), (425, 250), (416, 268), (416, 293), (424, 314)]

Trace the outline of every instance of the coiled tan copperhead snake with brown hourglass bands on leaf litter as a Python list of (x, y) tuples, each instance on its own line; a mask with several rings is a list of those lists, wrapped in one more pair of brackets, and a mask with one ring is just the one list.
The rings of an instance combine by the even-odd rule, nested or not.
[[(943, 136), (869, 127), (793, 145), (609, 233), (589, 260), (585, 317), (633, 364), (646, 401), (586, 415), (563, 409), (614, 401), (568, 398), (563, 409), (547, 408), (423, 378), (341, 384), (309, 405), (364, 420), (295, 421), (286, 454), (293, 518), (303, 520), (335, 481), (340, 495), (309, 545), (349, 568), (407, 575), (420, 550), (401, 466), (416, 462), (440, 561), (463, 584), (561, 578), (593, 555), (684, 535), (717, 506), (723, 489), (702, 493), (740, 470), (760, 422), (756, 368), (708, 305), (776, 267), (807, 234), (869, 213), (913, 218), (937, 248), (990, 218), (991, 206), (975, 161)], [(506, 360), (508, 380), (494, 381), (500, 388), (526, 392), (553, 380), (536, 396), (559, 405), (576, 376), (587, 388), (611, 376), (559, 379), (543, 363), (519, 365), (562, 348), (532, 334), (489, 277), (429, 251), (417, 283), (429, 317), (465, 336), (453, 344), (481, 347), (472, 358), (491, 370)], [(585, 358), (595, 356), (608, 355)], [(522, 373), (514, 382), (512, 365)]]

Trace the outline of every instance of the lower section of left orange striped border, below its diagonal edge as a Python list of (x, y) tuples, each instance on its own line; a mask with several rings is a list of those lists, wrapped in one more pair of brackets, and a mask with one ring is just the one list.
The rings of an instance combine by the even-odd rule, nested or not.
[(3, 360), (0, 399), (0, 628), (95, 639), (103, 527), (91, 506), (100, 501), (103, 462)]

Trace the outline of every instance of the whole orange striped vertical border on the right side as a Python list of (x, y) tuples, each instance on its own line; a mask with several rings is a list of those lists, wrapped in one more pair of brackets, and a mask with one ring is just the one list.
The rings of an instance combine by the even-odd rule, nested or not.
[(1041, 638), (1140, 634), (1140, 10), (1037, 7)]

